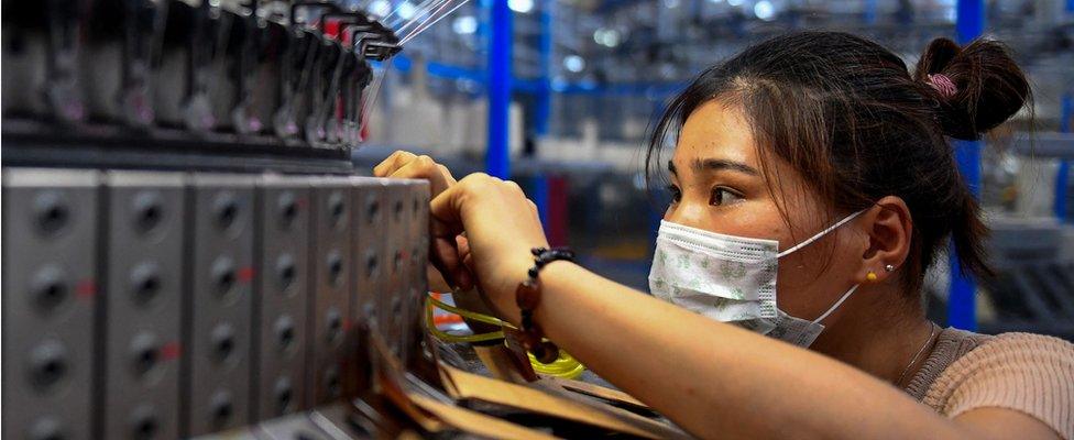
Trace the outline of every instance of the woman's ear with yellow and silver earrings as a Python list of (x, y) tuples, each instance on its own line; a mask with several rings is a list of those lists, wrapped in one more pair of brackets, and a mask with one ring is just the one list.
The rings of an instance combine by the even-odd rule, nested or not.
[[(862, 254), (862, 270), (856, 278), (862, 284), (883, 283), (900, 272), (910, 253), (913, 221), (910, 209), (896, 196), (886, 196), (876, 206), (862, 213), (864, 230), (868, 234), (868, 248)], [(894, 270), (888, 271), (890, 266)], [(869, 279), (869, 273), (876, 279)]]

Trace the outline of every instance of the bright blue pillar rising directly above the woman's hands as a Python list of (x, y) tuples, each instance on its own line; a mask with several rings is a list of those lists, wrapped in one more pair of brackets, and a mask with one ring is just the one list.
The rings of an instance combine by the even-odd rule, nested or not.
[(490, 2), (492, 32), (489, 38), (489, 142), (485, 172), (511, 175), (508, 111), (511, 109), (511, 9), (506, 0)]

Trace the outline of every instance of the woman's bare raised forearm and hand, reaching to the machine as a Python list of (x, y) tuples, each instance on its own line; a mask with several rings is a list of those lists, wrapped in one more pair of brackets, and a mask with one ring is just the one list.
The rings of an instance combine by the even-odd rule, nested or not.
[[(547, 245), (517, 185), (472, 175), (432, 201), (434, 255), (469, 272), (507, 319)], [(469, 264), (453, 238), (465, 230)], [(956, 438), (971, 435), (896, 388), (808, 350), (723, 324), (557, 262), (535, 312), (547, 336), (690, 432), (720, 438)], [(978, 432), (973, 432), (978, 433)]]

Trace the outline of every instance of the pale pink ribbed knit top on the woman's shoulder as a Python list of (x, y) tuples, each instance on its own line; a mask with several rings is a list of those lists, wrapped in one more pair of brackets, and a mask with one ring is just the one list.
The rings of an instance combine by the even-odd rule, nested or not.
[(1074, 344), (1057, 338), (944, 329), (906, 392), (946, 417), (1015, 409), (1074, 439)]

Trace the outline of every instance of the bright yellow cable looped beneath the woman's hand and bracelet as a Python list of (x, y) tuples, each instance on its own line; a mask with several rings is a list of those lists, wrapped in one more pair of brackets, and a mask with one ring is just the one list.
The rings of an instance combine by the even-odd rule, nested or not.
[[(440, 340), (446, 341), (446, 342), (451, 342), (451, 343), (468, 342), (469, 343), (469, 342), (493, 341), (493, 340), (497, 340), (497, 339), (503, 339), (504, 334), (503, 334), (503, 331), (493, 331), (493, 332), (490, 332), (490, 333), (469, 334), (469, 336), (459, 336), (459, 334), (448, 333), (448, 332), (446, 332), (443, 330), (440, 330), (440, 329), (438, 329), (436, 327), (436, 322), (432, 319), (432, 311), (434, 311), (432, 307), (434, 306), (437, 307), (437, 308), (440, 308), (442, 310), (446, 310), (448, 312), (456, 314), (458, 316), (461, 316), (463, 318), (471, 319), (471, 320), (474, 320), (474, 321), (478, 321), (478, 322), (484, 322), (484, 323), (492, 324), (492, 326), (507, 327), (509, 329), (514, 329), (515, 328), (509, 322), (505, 322), (502, 319), (498, 319), (496, 317), (491, 317), (491, 316), (487, 316), (487, 315), (484, 315), (484, 314), (478, 314), (475, 311), (465, 310), (465, 309), (461, 309), (461, 308), (458, 308), (458, 307), (454, 307), (454, 306), (450, 306), (450, 305), (448, 305), (448, 304), (446, 304), (446, 302), (443, 302), (443, 301), (441, 301), (441, 300), (439, 300), (437, 298), (434, 298), (431, 295), (428, 296), (426, 299), (427, 300), (425, 301), (425, 320), (426, 320), (426, 323), (427, 323), (427, 326), (429, 328), (429, 332), (431, 332), (432, 336), (435, 336), (435, 337), (437, 337)], [(551, 375), (551, 376), (558, 376), (558, 377), (563, 377), (563, 378), (576, 378), (576, 377), (580, 376), (585, 371), (585, 365), (582, 365), (581, 362), (578, 362), (573, 356), (571, 356), (570, 354), (568, 354), (563, 350), (560, 350), (559, 351), (559, 356), (556, 358), (555, 361), (552, 361), (551, 363), (548, 363), (548, 364), (538, 361), (537, 358), (535, 358), (533, 355), (533, 353), (528, 353), (527, 352), (526, 354), (529, 356), (529, 363), (534, 366), (534, 371), (537, 372), (537, 373), (540, 373), (540, 374)]]

